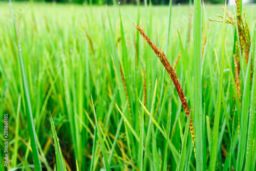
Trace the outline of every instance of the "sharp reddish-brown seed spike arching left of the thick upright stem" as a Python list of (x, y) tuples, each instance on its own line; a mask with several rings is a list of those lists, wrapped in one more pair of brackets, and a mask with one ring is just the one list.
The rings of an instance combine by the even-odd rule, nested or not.
[[(153, 49), (155, 54), (158, 56), (159, 60), (162, 62), (163, 66), (164, 66), (165, 70), (168, 72), (170, 78), (173, 80), (174, 86), (175, 86), (175, 88), (178, 92), (178, 95), (180, 97), (183, 109), (186, 113), (186, 117), (188, 118), (190, 111), (188, 108), (187, 100), (186, 100), (185, 94), (183, 92), (183, 89), (181, 88), (179, 79), (177, 78), (176, 72), (174, 71), (174, 68), (170, 65), (170, 63), (169, 63), (168, 59), (166, 58), (161, 47), (159, 50), (158, 47), (151, 41), (150, 38), (147, 37), (147, 35), (143, 32), (143, 30), (138, 25), (134, 24), (134, 26), (137, 28), (137, 30), (140, 32), (140, 34), (144, 37), (144, 39), (148, 42), (150, 47)], [(190, 117), (189, 129), (190, 129), (191, 137), (193, 140), (194, 152), (196, 152), (195, 131), (194, 131), (194, 125), (193, 125), (191, 117)], [(196, 153), (195, 153), (195, 157), (196, 157)]]

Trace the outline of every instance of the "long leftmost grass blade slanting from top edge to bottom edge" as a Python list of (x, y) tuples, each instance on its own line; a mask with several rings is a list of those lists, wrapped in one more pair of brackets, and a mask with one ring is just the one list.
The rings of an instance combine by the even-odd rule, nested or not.
[(41, 162), (40, 162), (40, 158), (39, 158), (38, 146), (37, 146), (37, 142), (36, 142), (35, 126), (34, 126), (33, 114), (32, 114), (32, 109), (31, 109), (29, 87), (28, 87), (28, 82), (27, 82), (25, 69), (24, 69), (24, 64), (23, 64), (23, 57), (22, 57), (22, 52), (21, 52), (22, 49), (21, 49), (21, 46), (20, 46), (19, 35), (18, 35), (18, 27), (17, 27), (17, 24), (16, 24), (16, 20), (15, 20), (11, 0), (9, 0), (9, 4), (10, 4), (10, 7), (11, 7), (12, 17), (13, 17), (13, 22), (14, 22), (14, 28), (15, 28), (16, 38), (17, 38), (17, 47), (18, 47), (20, 68), (22, 70), (21, 72), (22, 72), (22, 77), (23, 77), (24, 98), (25, 98), (27, 121), (28, 121), (28, 127), (29, 127), (29, 135), (30, 135), (30, 141), (31, 141), (31, 148), (32, 148), (32, 155), (33, 155), (33, 160), (34, 160), (34, 166), (35, 166), (36, 170), (42, 170)]

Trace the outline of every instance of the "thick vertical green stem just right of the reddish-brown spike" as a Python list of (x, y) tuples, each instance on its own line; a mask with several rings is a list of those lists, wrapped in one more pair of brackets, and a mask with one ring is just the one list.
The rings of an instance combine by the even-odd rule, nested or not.
[(194, 1), (194, 106), (195, 106), (195, 135), (196, 135), (196, 166), (203, 170), (203, 114), (202, 114), (202, 16), (201, 1)]

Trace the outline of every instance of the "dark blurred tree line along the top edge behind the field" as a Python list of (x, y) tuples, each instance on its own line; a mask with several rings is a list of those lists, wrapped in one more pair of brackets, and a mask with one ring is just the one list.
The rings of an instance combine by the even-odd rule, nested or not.
[[(0, 0), (1, 1), (1, 0)], [(14, 0), (14, 1), (26, 1), (26, 0)], [(140, 4), (144, 4), (144, 0), (32, 0), (36, 2), (56, 2), (56, 3), (78, 3), (78, 4), (94, 4), (94, 5), (103, 5), (108, 4), (112, 5), (113, 1), (116, 3), (120, 2), (121, 4), (132, 4), (136, 5), (137, 1), (140, 1)], [(147, 0), (149, 3), (150, 0)], [(227, 0), (228, 1), (228, 0)], [(232, 1), (232, 0), (229, 0)], [(256, 1), (256, 0), (255, 0)], [(169, 0), (151, 0), (153, 5), (168, 5)], [(192, 0), (193, 2), (193, 0)], [(173, 0), (173, 4), (188, 4), (189, 0)], [(224, 4), (225, 0), (204, 0), (204, 3), (210, 4)]]

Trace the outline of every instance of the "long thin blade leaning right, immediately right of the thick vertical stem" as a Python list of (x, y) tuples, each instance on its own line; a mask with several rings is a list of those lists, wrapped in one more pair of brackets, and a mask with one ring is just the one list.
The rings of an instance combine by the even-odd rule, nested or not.
[(211, 143), (211, 150), (210, 150), (210, 165), (209, 165), (209, 170), (210, 171), (215, 170), (216, 160), (217, 160), (219, 122), (220, 122), (221, 99), (222, 99), (222, 90), (223, 90), (225, 24), (226, 24), (225, 20), (226, 20), (226, 1), (225, 1), (225, 9), (224, 9), (224, 20), (223, 20), (224, 22), (223, 22), (223, 28), (222, 28), (221, 67), (220, 67), (220, 74), (219, 74), (216, 112), (215, 112), (215, 118), (214, 118), (214, 129), (212, 131), (212, 143)]

